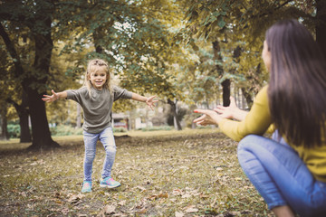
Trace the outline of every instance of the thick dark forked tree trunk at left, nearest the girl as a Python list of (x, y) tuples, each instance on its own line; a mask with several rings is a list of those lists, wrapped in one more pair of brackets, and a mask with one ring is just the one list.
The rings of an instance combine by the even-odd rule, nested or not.
[[(52, 33), (52, 13), (54, 10), (53, 1), (35, 1), (37, 5), (44, 5), (42, 10), (36, 10), (30, 16), (17, 20), (17, 17), (10, 16), (8, 19), (21, 22), (27, 26), (31, 35), (34, 37), (34, 69), (33, 71), (24, 71), (20, 56), (14, 48), (4, 26), (0, 23), (0, 35), (2, 36), (7, 51), (14, 61), (15, 76), (20, 77), (22, 86), (27, 94), (28, 107), (30, 109), (32, 122), (33, 143), (29, 149), (44, 149), (59, 146), (53, 141), (50, 128), (46, 118), (45, 105), (42, 100), (48, 76), (50, 74), (50, 61), (53, 50)], [(46, 12), (46, 13), (44, 13)], [(36, 27), (35, 27), (36, 26)], [(39, 32), (42, 29), (42, 32)], [(39, 92), (39, 90), (42, 90)]]

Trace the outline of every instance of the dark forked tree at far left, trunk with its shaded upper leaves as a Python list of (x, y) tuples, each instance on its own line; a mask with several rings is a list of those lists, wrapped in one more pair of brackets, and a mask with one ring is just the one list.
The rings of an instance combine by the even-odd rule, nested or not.
[[(33, 144), (30, 148), (59, 146), (53, 141), (45, 106), (41, 100), (45, 93), (45, 84), (49, 79), (49, 68), (53, 50), (52, 24), (54, 13), (53, 1), (4, 1), (0, 7), (0, 35), (6, 51), (12, 58), (14, 75), (22, 85), (28, 99), (28, 108), (32, 122)], [(26, 37), (34, 44), (34, 61), (26, 67), (17, 46), (7, 32), (8, 26), (26, 32)], [(22, 37), (22, 35), (14, 35)]]

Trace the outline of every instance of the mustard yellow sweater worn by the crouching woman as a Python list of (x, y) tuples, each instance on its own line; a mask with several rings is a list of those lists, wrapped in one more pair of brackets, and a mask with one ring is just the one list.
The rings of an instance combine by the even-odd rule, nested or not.
[[(223, 119), (219, 123), (220, 129), (226, 136), (240, 141), (243, 137), (255, 134), (264, 135), (264, 132), (272, 125), (271, 113), (268, 106), (267, 88), (259, 91), (254, 99), (254, 105), (243, 121)], [(286, 138), (285, 138), (286, 139)], [(325, 140), (325, 139), (324, 139)], [(290, 144), (290, 146), (292, 146)], [(303, 146), (292, 146), (298, 152), (302, 161), (308, 166), (314, 177), (326, 182), (326, 143), (324, 146), (304, 148)]]

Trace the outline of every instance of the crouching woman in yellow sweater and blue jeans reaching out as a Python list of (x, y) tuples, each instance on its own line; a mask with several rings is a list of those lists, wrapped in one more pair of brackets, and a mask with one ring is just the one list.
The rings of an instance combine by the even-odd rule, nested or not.
[[(267, 30), (262, 57), (270, 83), (247, 114), (233, 103), (197, 109), (194, 122), (241, 140), (239, 163), (277, 216), (326, 216), (326, 61), (295, 20)], [(271, 125), (274, 139), (263, 137)]]

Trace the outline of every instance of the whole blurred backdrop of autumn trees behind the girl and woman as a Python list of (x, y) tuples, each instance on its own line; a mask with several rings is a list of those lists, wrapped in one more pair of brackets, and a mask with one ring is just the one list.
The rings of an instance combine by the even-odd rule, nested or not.
[[(158, 115), (158, 123), (191, 127), (192, 109), (227, 106), (230, 95), (250, 109), (268, 82), (265, 30), (299, 19), (325, 52), (325, 14), (322, 0), (1, 1), (2, 135), (8, 137), (7, 123), (18, 123), (21, 142), (33, 141), (31, 148), (58, 146), (49, 126), (80, 127), (82, 111), (69, 100), (45, 107), (42, 96), (80, 88), (95, 57), (109, 62), (120, 87), (158, 96), (167, 116)], [(119, 100), (114, 111), (138, 105)]]

